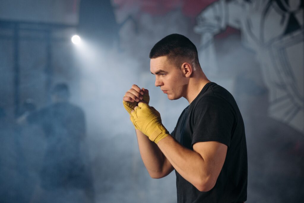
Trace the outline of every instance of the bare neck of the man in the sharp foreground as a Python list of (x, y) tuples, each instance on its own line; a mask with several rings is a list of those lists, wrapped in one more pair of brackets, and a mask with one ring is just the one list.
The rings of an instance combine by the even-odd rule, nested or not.
[(185, 98), (191, 104), (191, 102), (199, 95), (202, 88), (211, 81), (208, 80), (206, 75), (202, 71), (195, 72), (193, 77), (189, 80), (188, 88)]

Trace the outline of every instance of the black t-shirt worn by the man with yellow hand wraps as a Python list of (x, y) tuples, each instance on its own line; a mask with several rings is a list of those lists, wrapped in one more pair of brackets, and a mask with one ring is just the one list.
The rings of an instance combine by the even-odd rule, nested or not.
[(197, 190), (176, 173), (178, 202), (243, 202), (247, 200), (247, 147), (242, 116), (233, 96), (216, 83), (207, 83), (185, 108), (171, 135), (193, 150), (197, 142), (217, 141), (228, 146), (214, 188)]

